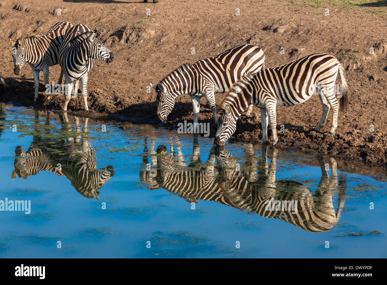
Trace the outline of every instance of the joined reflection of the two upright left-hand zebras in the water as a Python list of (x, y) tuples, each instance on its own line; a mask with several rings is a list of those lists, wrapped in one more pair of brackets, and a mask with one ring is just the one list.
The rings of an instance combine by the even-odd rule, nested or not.
[[(47, 112), (46, 125), (50, 125), (49, 116)], [(62, 131), (66, 132), (67, 137), (50, 139), (46, 138), (41, 130), (36, 130), (38, 135), (34, 135), (27, 152), (20, 146), (15, 149), (15, 169), (12, 171), (12, 179), (19, 176), (26, 180), (29, 175), (36, 175), (39, 171), (50, 171), (67, 177), (75, 190), (84, 197), (94, 197), (99, 201), (99, 189), (114, 175), (114, 168), (106, 166), (97, 169), (96, 153), (88, 135), (84, 133), (88, 131), (89, 118), (83, 118), (84, 126), (81, 133), (79, 117), (74, 116), (75, 132), (66, 112), (59, 117)], [(39, 124), (38, 111), (35, 113), (35, 124)]]

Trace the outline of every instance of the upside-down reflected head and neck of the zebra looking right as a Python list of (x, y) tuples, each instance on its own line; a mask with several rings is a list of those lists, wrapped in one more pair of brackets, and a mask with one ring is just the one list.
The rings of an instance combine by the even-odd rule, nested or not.
[(86, 173), (82, 173), (82, 170), (78, 172), (75, 179), (71, 180), (71, 184), (84, 197), (96, 198), (99, 201), (98, 190), (113, 177), (115, 173), (113, 166), (109, 165), (98, 170), (84, 169), (83, 171)]

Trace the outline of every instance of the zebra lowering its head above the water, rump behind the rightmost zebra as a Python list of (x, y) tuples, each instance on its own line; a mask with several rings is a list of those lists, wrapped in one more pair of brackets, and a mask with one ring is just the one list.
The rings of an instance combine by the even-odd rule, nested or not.
[[(216, 123), (214, 93), (228, 92), (230, 86), (241, 76), (257, 73), (264, 68), (264, 60), (265, 55), (261, 48), (243, 43), (214, 57), (178, 67), (158, 85), (152, 86), (157, 92), (157, 116), (165, 122), (175, 106), (176, 97), (188, 93), (194, 110), (194, 124), (198, 122), (202, 96), (207, 99)], [(246, 115), (250, 116), (250, 112), (251, 108)]]

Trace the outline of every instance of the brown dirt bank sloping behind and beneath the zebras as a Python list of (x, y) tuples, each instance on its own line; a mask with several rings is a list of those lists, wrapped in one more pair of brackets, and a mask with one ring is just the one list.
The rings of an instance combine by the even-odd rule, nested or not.
[[(151, 2), (151, 1), (149, 1)], [(305, 152), (350, 157), (387, 166), (387, 1), (365, 0), (159, 0), (159, 3), (118, 0), (5, 0), (0, 5), (1, 70), (7, 83), (3, 102), (31, 105), (33, 76), (22, 68), (13, 73), (9, 38), (42, 35), (52, 24), (69, 21), (99, 29), (99, 38), (115, 54), (111, 64), (96, 62), (89, 73), (89, 112), (83, 112), (81, 96), (72, 98), (69, 109), (77, 115), (130, 119), (155, 123), (154, 90), (166, 74), (185, 62), (219, 54), (239, 43), (259, 45), (265, 51), (266, 67), (280, 66), (304, 55), (325, 52), (346, 68), (349, 110), (339, 113), (336, 135), (316, 133), (322, 107), (317, 95), (295, 107), (279, 107), (279, 147)], [(57, 16), (55, 9), (62, 9)], [(150, 9), (151, 16), (147, 16)], [(236, 16), (240, 9), (240, 16)], [(325, 15), (329, 9), (329, 15)], [(191, 48), (195, 54), (191, 54)], [(284, 47), (284, 54), (280, 48)], [(370, 54), (373, 48), (373, 54)], [(50, 67), (50, 81), (56, 81), (59, 66)], [(41, 75), (41, 81), (43, 76)], [(337, 81), (339, 83), (339, 81)], [(45, 98), (43, 83), (35, 107), (61, 109), (63, 95)], [(216, 96), (220, 102), (223, 94)], [(199, 120), (212, 124), (205, 99)], [(250, 118), (238, 122), (236, 139), (257, 142), (262, 137), (257, 108)], [(192, 120), (188, 95), (177, 98), (167, 124)], [(280, 133), (284, 124), (285, 132)], [(374, 131), (370, 131), (370, 125)], [(269, 131), (270, 135), (270, 131)]]

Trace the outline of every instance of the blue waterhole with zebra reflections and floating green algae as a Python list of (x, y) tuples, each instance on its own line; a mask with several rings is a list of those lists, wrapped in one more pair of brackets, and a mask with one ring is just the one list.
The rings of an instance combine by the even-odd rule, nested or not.
[[(206, 137), (194, 147), (158, 126), (2, 112), (0, 200), (30, 200), (31, 213), (0, 211), (0, 257), (387, 257), (385, 172)], [(18, 146), (44, 156), (15, 157)], [(85, 187), (72, 168), (102, 178)], [(281, 197), (304, 215), (254, 203)]]

